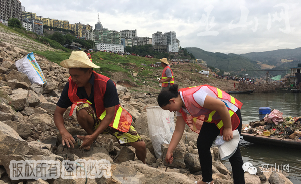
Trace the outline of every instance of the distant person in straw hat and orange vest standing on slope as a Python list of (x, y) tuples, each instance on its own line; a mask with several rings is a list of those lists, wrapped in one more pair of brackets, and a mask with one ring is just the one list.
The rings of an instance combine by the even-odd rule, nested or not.
[(169, 67), (169, 63), (166, 58), (160, 59), (161, 66), (164, 68), (159, 83), (162, 83), (162, 89), (169, 89), (171, 85), (174, 85), (174, 74), (172, 69)]

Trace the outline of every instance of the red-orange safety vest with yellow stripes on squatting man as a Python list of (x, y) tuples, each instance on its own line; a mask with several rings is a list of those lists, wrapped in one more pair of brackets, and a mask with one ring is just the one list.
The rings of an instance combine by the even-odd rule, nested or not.
[[(94, 79), (94, 103), (95, 103), (95, 109), (96, 109), (96, 115), (100, 120), (103, 120), (103, 118), (106, 115), (106, 110), (103, 105), (103, 96), (106, 91), (106, 83), (110, 79), (106, 76), (100, 75), (93, 71), (93, 74), (95, 76)], [(69, 116), (72, 115), (72, 112), (74, 110), (74, 107), (81, 103), (88, 103), (91, 105), (91, 102), (89, 102), (87, 99), (80, 99), (76, 95), (77, 91), (77, 85), (75, 82), (72, 81), (71, 77), (69, 77), (69, 90), (68, 90), (68, 97), (71, 102), (73, 102), (70, 110)], [(116, 84), (115, 84), (116, 85)], [(132, 123), (132, 116), (123, 109), (120, 104), (115, 106), (115, 114), (114, 119), (110, 123), (110, 126), (121, 131), (121, 132), (128, 132), (129, 127)]]

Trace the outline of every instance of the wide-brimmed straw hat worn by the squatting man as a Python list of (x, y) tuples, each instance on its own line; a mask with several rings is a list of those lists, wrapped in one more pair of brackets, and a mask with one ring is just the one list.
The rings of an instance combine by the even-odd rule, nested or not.
[(60, 63), (64, 68), (101, 68), (92, 63), (83, 51), (73, 51), (69, 57)]

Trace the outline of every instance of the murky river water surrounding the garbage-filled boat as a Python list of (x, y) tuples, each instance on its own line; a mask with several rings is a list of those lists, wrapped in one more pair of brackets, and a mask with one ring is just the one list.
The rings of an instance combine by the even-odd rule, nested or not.
[[(262, 115), (258, 114), (259, 107), (270, 107), (283, 112), (283, 116), (301, 116), (301, 93), (253, 93), (253, 94), (231, 94), (243, 103), (241, 108), (242, 121), (249, 124), (251, 121), (260, 120)], [(264, 116), (263, 116), (264, 117)], [(273, 168), (280, 169), (282, 164), (289, 164), (289, 176), (287, 178), (294, 184), (301, 184), (301, 150), (287, 149), (281, 147), (263, 146), (252, 144), (247, 141), (240, 142), (242, 159), (255, 166), (267, 166), (271, 172)], [(231, 169), (228, 161), (223, 162)], [(284, 171), (283, 171), (284, 172)]]

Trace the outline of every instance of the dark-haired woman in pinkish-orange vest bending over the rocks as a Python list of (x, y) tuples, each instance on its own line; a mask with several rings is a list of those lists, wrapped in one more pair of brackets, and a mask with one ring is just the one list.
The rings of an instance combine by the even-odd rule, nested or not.
[[(157, 102), (162, 109), (177, 112), (177, 123), (165, 161), (170, 164), (173, 162), (173, 151), (182, 138), (186, 123), (191, 130), (199, 133), (197, 147), (202, 167), (202, 181), (195, 183), (213, 184), (210, 147), (219, 134), (223, 135), (224, 141), (230, 141), (233, 139), (233, 130), (241, 132), (242, 103), (225, 91), (210, 85), (178, 90), (177, 84), (172, 85), (169, 90), (161, 91)], [(229, 161), (233, 170), (234, 184), (244, 184), (239, 143)]]

